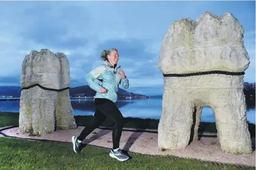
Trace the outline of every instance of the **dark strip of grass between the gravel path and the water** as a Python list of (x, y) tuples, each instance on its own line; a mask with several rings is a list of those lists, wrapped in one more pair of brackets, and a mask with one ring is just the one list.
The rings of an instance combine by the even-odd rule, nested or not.
[[(75, 116), (75, 121), (77, 124), (86, 126), (92, 122), (92, 116)], [(0, 127), (12, 126), (19, 124), (19, 114), (18, 113), (6, 113), (0, 112)], [(138, 128), (138, 129), (157, 129), (159, 124), (159, 119), (141, 119), (141, 118), (125, 118), (124, 128)], [(112, 128), (114, 126), (113, 121), (106, 119), (101, 126), (107, 128)], [(252, 136), (255, 136), (255, 124), (248, 123), (248, 129)], [(199, 132), (216, 133), (215, 123), (205, 123), (201, 122), (198, 129)]]

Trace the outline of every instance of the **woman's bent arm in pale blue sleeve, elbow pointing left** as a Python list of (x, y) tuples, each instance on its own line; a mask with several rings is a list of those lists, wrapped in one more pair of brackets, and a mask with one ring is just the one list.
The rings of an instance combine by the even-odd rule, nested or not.
[(99, 66), (98, 68), (93, 69), (93, 71), (90, 71), (90, 73), (88, 73), (85, 76), (85, 79), (86, 79), (88, 85), (94, 91), (99, 92), (100, 89), (102, 89), (102, 86), (100, 86), (100, 84), (97, 83), (97, 81), (95, 81), (95, 80), (97, 78), (99, 78), (104, 73), (104, 71), (105, 71), (105, 67), (104, 66)]

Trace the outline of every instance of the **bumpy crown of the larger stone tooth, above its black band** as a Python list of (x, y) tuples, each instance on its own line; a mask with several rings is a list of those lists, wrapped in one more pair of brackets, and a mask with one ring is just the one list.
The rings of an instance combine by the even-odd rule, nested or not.
[(171, 24), (158, 66), (163, 73), (184, 74), (242, 72), (249, 63), (240, 22), (230, 13), (216, 17), (206, 12), (196, 21), (182, 19)]

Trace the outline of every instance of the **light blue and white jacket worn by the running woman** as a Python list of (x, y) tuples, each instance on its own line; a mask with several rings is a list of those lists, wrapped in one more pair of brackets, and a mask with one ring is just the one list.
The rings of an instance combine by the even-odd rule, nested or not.
[[(101, 66), (87, 74), (85, 79), (88, 85), (97, 92), (95, 98), (110, 99), (110, 101), (115, 103), (117, 101), (119, 84), (121, 84), (124, 89), (129, 88), (129, 80), (127, 77), (122, 79), (119, 70), (120, 66), (117, 65), (113, 68), (108, 61), (104, 61)], [(100, 94), (99, 91), (101, 88), (106, 89), (107, 93)]]

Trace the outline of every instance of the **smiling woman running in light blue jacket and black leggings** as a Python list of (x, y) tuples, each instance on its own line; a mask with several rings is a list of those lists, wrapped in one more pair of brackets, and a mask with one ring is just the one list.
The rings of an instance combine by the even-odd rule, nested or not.
[(100, 56), (104, 61), (101, 66), (95, 68), (87, 74), (86, 80), (90, 88), (95, 90), (95, 113), (93, 121), (86, 126), (80, 136), (73, 136), (73, 150), (79, 153), (81, 143), (92, 131), (99, 127), (107, 117), (110, 117), (115, 125), (112, 131), (113, 148), (110, 150), (109, 156), (119, 161), (126, 161), (129, 159), (119, 148), (122, 128), (124, 126), (124, 118), (120, 113), (115, 102), (117, 101), (117, 91), (119, 84), (124, 88), (129, 88), (129, 81), (124, 74), (124, 71), (117, 65), (119, 60), (119, 53), (117, 49), (111, 48), (104, 50)]

